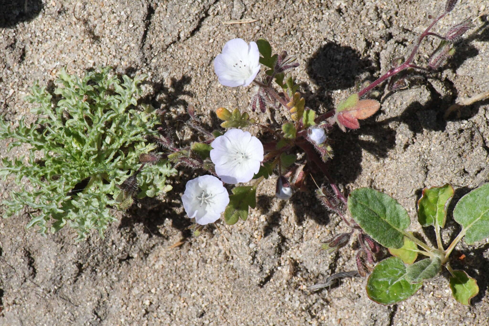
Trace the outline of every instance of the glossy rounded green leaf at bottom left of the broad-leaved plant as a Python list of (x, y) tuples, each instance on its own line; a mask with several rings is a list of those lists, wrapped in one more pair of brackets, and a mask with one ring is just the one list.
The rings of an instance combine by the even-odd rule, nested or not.
[(378, 304), (397, 304), (416, 293), (422, 283), (410, 284), (404, 278), (406, 267), (397, 257), (380, 261), (367, 280), (367, 295)]

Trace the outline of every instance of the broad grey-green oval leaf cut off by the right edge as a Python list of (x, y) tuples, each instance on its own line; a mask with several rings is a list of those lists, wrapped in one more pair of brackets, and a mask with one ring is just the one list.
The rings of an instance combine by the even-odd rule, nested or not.
[(463, 226), (464, 240), (473, 244), (489, 237), (489, 183), (460, 198), (453, 219)]

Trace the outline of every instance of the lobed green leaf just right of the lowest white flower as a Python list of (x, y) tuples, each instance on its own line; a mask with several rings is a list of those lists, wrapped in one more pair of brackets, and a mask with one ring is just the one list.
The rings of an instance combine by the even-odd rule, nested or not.
[(241, 218), (248, 218), (248, 207), (256, 207), (256, 187), (235, 187), (229, 196), (229, 204), (224, 211), (224, 222), (235, 224)]

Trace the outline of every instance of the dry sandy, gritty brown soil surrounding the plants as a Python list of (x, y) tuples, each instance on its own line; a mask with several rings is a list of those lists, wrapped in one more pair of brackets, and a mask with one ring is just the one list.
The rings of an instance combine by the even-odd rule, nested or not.
[[(293, 75), (303, 83), (307, 105), (325, 111), (355, 90), (357, 77), (373, 81), (386, 71), (429, 23), (428, 14), (444, 7), (429, 0), (0, 2), (0, 114), (6, 119), (27, 115), (32, 121), (22, 98), (35, 80), (50, 83), (62, 67), (82, 74), (113, 65), (119, 73), (149, 74), (144, 100), (168, 109), (169, 121), (186, 119), (185, 108), (193, 104), (212, 126), (213, 110), (244, 108), (253, 91), (218, 84), (212, 60), (225, 41), (265, 37), (276, 51), (297, 55)], [(386, 192), (413, 221), (423, 187), (449, 182), (456, 202), (489, 177), (489, 101), (443, 118), (455, 101), (489, 89), (487, 5), (460, 2), (435, 30), (486, 14), (450, 62), (388, 94), (359, 130), (332, 135), (331, 168), (342, 189)], [(259, 21), (222, 24), (242, 18)], [(178, 136), (185, 142), (190, 134), (180, 129)], [(23, 151), (7, 153), (5, 144), (2, 157)], [(167, 197), (114, 213), (120, 222), (105, 239), (93, 234), (74, 244), (68, 229), (44, 239), (25, 230), (27, 211), (1, 220), (0, 325), (489, 325), (487, 241), (470, 248), (461, 243), (454, 254), (466, 255), (453, 264), (480, 287), (470, 307), (450, 297), (446, 271), (393, 306), (371, 302), (362, 278), (310, 293), (308, 285), (355, 269), (354, 244), (316, 255), (321, 240), (346, 228), (319, 206), (311, 182), (311, 192), (279, 201), (269, 180), (246, 222), (220, 222), (221, 231), (211, 227), (194, 239), (179, 200), (193, 176), (183, 170)], [(11, 180), (0, 182), (1, 197), (12, 187)], [(445, 243), (455, 231), (449, 222)]]

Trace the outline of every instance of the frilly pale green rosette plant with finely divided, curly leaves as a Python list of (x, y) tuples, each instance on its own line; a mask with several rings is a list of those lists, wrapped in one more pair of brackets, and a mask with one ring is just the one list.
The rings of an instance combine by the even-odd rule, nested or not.
[(0, 138), (14, 138), (9, 150), (30, 147), (27, 157), (2, 159), (0, 176), (14, 174), (21, 186), (3, 202), (4, 217), (28, 206), (32, 219), (27, 227), (37, 225), (45, 235), (49, 221), (53, 233), (69, 223), (79, 241), (90, 229), (103, 236), (115, 220), (111, 206), (127, 209), (136, 194), (153, 197), (171, 190), (166, 177), (175, 170), (152, 153), (157, 148), (151, 142), (158, 134), (156, 110), (136, 108), (145, 76), (124, 75), (121, 80), (103, 68), (81, 79), (64, 70), (58, 77), (55, 96), (37, 83), (27, 96), (39, 104), (31, 110), (38, 115), (32, 125), (26, 126), (22, 117), (12, 128), (0, 119)]

